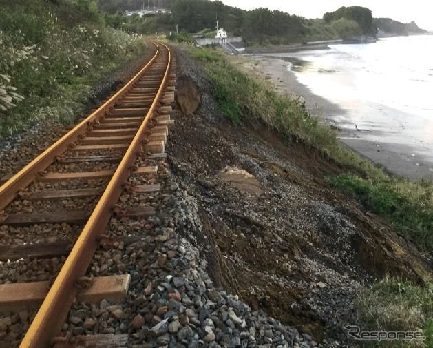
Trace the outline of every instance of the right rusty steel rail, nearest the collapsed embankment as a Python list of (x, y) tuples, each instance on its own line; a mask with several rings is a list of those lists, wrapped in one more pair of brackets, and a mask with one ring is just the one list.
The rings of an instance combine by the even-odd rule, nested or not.
[[(154, 43), (154, 42), (153, 42)], [(156, 43), (154, 43), (157, 45)], [(158, 45), (164, 45), (158, 43)], [(147, 123), (154, 114), (158, 101), (165, 88), (171, 65), (171, 52), (167, 45), (168, 62), (164, 77), (158, 93), (151, 104), (149, 112), (142, 121), (134, 139), (131, 142), (116, 172), (109, 181), (101, 199), (98, 201), (92, 215), (76, 240), (72, 251), (65, 260), (59, 275), (48, 291), (39, 311), (36, 313), (32, 324), (21, 341), (20, 348), (46, 348), (50, 347), (52, 339), (59, 334), (63, 320), (74, 303), (78, 289), (76, 280), (85, 275), (87, 267), (92, 261), (94, 252), (98, 247), (98, 236), (103, 234), (112, 215), (112, 208), (116, 205), (120, 194), (123, 191), (123, 183), (127, 181), (129, 172), (136, 159), (137, 153), (142, 146), (142, 139), (147, 128)], [(159, 48), (158, 48), (159, 52)]]

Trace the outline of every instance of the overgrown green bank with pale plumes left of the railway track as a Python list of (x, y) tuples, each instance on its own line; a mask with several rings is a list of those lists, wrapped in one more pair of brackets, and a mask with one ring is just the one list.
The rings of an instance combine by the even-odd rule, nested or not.
[(0, 0), (0, 138), (41, 119), (74, 120), (98, 80), (146, 49), (108, 28), (92, 1), (58, 2)]

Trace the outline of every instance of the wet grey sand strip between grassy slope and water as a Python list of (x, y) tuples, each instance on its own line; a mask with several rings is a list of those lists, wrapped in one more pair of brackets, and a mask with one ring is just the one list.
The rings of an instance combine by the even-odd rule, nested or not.
[[(249, 58), (252, 60), (244, 64), (246, 68), (263, 74), (265, 79), (274, 83), (282, 94), (304, 100), (311, 114), (337, 127), (337, 136), (341, 141), (361, 156), (382, 165), (388, 172), (405, 176), (412, 181), (421, 178), (433, 180), (432, 156), (421, 154), (416, 147), (410, 145), (363, 139), (363, 132), (355, 130), (355, 124), (352, 127), (347, 125), (343, 127), (339, 123), (339, 118), (344, 116), (345, 110), (313, 94), (305, 85), (299, 83), (295, 73), (287, 70), (286, 62), (265, 57)], [(381, 137), (381, 132), (385, 132), (374, 125), (369, 130), (378, 138)]]

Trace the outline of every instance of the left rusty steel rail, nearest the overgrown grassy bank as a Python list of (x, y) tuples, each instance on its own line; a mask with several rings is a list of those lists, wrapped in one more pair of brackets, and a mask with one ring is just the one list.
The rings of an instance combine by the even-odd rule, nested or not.
[(70, 132), (67, 132), (54, 144), (48, 147), (44, 152), (39, 154), (33, 161), (25, 165), (17, 174), (14, 174), (6, 183), (0, 186), (0, 211), (6, 207), (10, 202), (14, 200), (17, 196), (19, 190), (23, 190), (25, 187), (30, 185), (32, 181), (38, 176), (39, 172), (45, 170), (51, 163), (54, 162), (56, 156), (60, 156), (67, 150), (67, 147), (74, 143), (81, 134), (84, 134), (89, 124), (93, 121), (98, 121), (105, 115), (106, 112), (112, 108), (118, 99), (120, 99), (125, 93), (133, 87), (134, 83), (140, 76), (146, 72), (150, 67), (151, 63), (154, 63), (156, 57), (158, 56), (158, 45), (152, 42), (156, 46), (156, 52), (150, 61), (126, 84), (114, 94), (108, 101), (103, 103), (97, 110), (92, 112), (86, 119), (78, 123)]

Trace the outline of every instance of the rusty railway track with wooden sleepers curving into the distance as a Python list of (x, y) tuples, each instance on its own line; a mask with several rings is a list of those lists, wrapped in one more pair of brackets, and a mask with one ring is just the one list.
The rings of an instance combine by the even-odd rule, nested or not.
[[(149, 229), (147, 218), (156, 214), (152, 196), (128, 200), (160, 190), (158, 161), (173, 125), (176, 62), (166, 45), (151, 44), (154, 56), (131, 81), (0, 187), (0, 232), (9, 242), (12, 235), (27, 238), (0, 247), (1, 261), (21, 260), (19, 276), (5, 281), (0, 274), (0, 312), (29, 313), (31, 321), (21, 343), (18, 334), (0, 347), (66, 347), (59, 336), (74, 302), (127, 294), (125, 270), (93, 277), (89, 265), (96, 250), (134, 242), (134, 236), (109, 233), (113, 219)], [(26, 278), (26, 270), (47, 258), (54, 260), (50, 267)], [(5, 324), (10, 331), (8, 324), (14, 324)]]

